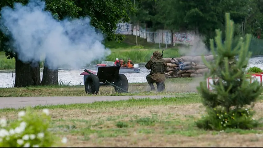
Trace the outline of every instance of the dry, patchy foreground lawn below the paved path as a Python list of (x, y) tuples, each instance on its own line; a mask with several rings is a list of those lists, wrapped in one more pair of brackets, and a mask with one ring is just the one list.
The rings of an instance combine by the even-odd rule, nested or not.
[[(206, 131), (195, 127), (204, 113), (196, 95), (130, 99), (91, 104), (36, 106), (50, 109), (50, 130), (66, 136), (66, 146), (260, 146), (262, 127), (254, 130)], [(262, 117), (262, 102), (255, 118)], [(17, 119), (19, 110), (1, 109)], [(41, 110), (39, 110), (41, 112)], [(205, 140), (204, 140), (205, 139)]]

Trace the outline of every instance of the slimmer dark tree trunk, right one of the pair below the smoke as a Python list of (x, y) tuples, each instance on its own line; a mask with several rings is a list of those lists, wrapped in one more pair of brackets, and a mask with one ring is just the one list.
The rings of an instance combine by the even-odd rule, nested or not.
[(58, 68), (56, 69), (48, 68), (47, 59), (45, 59), (41, 85), (58, 85), (58, 74), (59, 74)]

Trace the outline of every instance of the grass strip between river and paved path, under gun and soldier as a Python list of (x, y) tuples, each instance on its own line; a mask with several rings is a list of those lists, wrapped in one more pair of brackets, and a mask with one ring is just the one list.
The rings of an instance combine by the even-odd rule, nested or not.
[[(150, 86), (147, 83), (130, 83), (129, 94), (116, 93), (112, 86), (101, 86), (97, 96), (120, 96), (120, 95), (175, 95), (182, 92), (196, 92), (196, 86), (203, 78), (174, 78), (166, 79), (164, 92), (148, 92)], [(154, 84), (155, 85), (155, 84)], [(156, 87), (156, 85), (155, 85)], [(0, 97), (29, 97), (29, 96), (92, 96), (87, 95), (84, 85), (78, 86), (50, 86), (50, 87), (27, 87), (27, 88), (0, 88)], [(0, 98), (1, 99), (1, 98)]]

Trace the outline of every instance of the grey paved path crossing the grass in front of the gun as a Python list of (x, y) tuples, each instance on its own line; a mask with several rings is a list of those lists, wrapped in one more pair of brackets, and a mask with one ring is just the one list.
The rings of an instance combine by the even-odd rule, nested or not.
[(19, 108), (35, 105), (58, 105), (58, 104), (76, 104), (92, 103), (95, 101), (118, 101), (131, 98), (151, 98), (160, 99), (162, 97), (181, 97), (181, 96), (88, 96), (88, 97), (0, 97), (0, 109)]

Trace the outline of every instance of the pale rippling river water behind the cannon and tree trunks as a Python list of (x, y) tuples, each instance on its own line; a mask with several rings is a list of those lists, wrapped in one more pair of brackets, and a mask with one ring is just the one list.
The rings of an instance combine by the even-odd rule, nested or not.
[[(249, 60), (249, 66), (253, 67), (257, 66), (261, 69), (263, 69), (263, 56), (260, 57), (253, 57)], [(129, 83), (143, 83), (146, 81), (146, 75), (148, 74), (148, 71), (145, 67), (140, 67), (141, 71), (140, 73), (125, 73)], [(88, 67), (87, 69), (90, 69), (92, 71), (96, 71), (94, 67)], [(61, 82), (69, 83), (71, 85), (83, 85), (83, 76), (80, 75), (84, 70), (59, 70), (59, 76), (58, 79)], [(40, 72), (41, 80), (42, 80), (42, 72)], [(6, 87), (13, 87), (14, 86), (14, 78), (15, 78), (15, 72), (13, 71), (1, 71), (0, 72), (0, 88), (6, 88)]]

